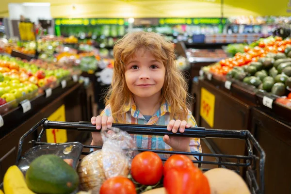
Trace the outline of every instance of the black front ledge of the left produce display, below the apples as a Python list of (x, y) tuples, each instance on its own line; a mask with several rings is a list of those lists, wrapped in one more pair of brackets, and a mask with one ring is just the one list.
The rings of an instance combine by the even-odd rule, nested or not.
[(44, 105), (47, 105), (53, 99), (60, 97), (62, 94), (71, 90), (73, 87), (77, 87), (78, 84), (80, 83), (73, 81), (72, 78), (67, 78), (65, 87), (62, 86), (61, 82), (59, 82), (54, 85), (51, 90), (49, 89), (50, 91), (48, 90), (46, 92), (46, 89), (48, 88), (42, 88), (42, 93), (29, 100), (31, 108), (25, 113), (22, 106), (20, 105), (20, 102), (20, 104), (16, 108), (2, 114), (1, 117), (3, 121), (3, 126), (0, 127), (0, 138), (4, 137), (11, 130), (15, 129), (21, 123), (25, 122), (28, 118), (32, 117)]

